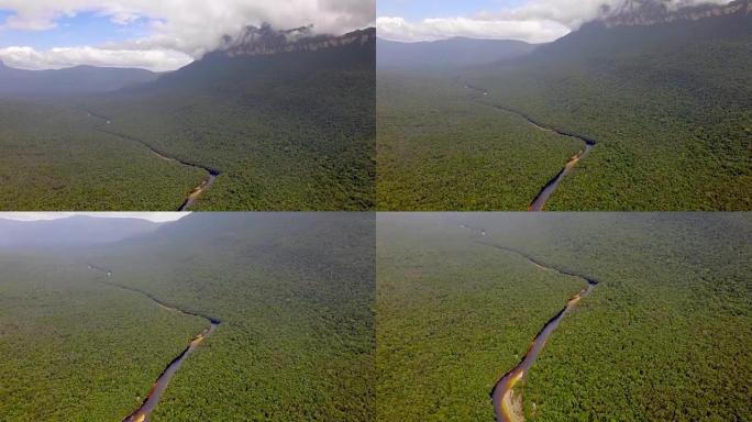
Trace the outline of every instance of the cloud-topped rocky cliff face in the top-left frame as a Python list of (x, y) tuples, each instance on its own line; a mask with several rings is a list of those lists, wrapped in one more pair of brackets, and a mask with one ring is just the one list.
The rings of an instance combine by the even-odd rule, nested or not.
[(376, 29), (354, 31), (344, 35), (311, 35), (310, 26), (275, 31), (268, 25), (247, 27), (237, 38), (225, 36), (220, 51), (229, 57), (267, 56), (284, 53), (316, 52), (349, 45), (363, 46), (376, 42)]

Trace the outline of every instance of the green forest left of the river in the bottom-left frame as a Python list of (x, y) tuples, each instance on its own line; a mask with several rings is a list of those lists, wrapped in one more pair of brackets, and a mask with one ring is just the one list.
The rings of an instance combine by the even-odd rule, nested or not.
[(0, 265), (5, 422), (120, 421), (204, 327), (54, 255), (3, 253)]

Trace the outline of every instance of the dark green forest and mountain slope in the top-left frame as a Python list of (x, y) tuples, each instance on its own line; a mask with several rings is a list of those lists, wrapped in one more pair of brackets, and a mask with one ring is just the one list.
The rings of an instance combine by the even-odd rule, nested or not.
[[(30, 190), (29, 178), (7, 176), (0, 208), (175, 210), (207, 175), (163, 163), (148, 145), (221, 171), (196, 209), (371, 209), (375, 31), (325, 42), (314, 51), (270, 55), (218, 51), (151, 84), (58, 99), (60, 108), (3, 100), (0, 116), (9, 124), (0, 147), (18, 151), (5, 156), (3, 168), (22, 167), (43, 180)], [(101, 118), (87, 119), (84, 110)], [(148, 168), (165, 174), (155, 177)], [(168, 178), (179, 181), (166, 188)], [(88, 179), (97, 181), (82, 185)], [(137, 199), (124, 195), (124, 186), (139, 190)]]

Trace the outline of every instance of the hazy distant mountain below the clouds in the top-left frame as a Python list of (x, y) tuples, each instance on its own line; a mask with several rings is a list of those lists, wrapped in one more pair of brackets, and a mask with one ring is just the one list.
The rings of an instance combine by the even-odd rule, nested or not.
[(76, 66), (58, 70), (24, 70), (0, 62), (0, 96), (108, 92), (156, 79), (157, 74), (144, 69)]

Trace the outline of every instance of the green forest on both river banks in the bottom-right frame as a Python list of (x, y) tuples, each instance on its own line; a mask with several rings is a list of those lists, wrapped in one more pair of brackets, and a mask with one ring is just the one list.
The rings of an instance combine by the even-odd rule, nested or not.
[[(519, 387), (527, 420), (745, 421), (752, 414), (749, 214), (417, 214), (385, 218), (378, 229), (378, 376), (421, 392), (402, 408), (406, 420), (436, 409), (435, 420), (493, 420), (490, 382), (518, 363), (509, 353), (523, 353), (566, 302), (541, 286), (538, 268), (510, 269), (513, 256), (463, 240), (461, 223), (485, 229), (484, 242), (600, 281), (564, 318)], [(566, 278), (550, 282), (566, 296)], [(440, 319), (406, 304), (397, 324), (392, 308), (409, 301), (400, 295), (406, 289), (432, 298), (428, 309), (441, 309)], [(499, 347), (496, 368), (484, 357), (491, 347)], [(473, 362), (464, 363), (466, 356)], [(389, 360), (399, 376), (384, 370)], [(379, 411), (399, 399), (381, 395), (383, 385)]]

